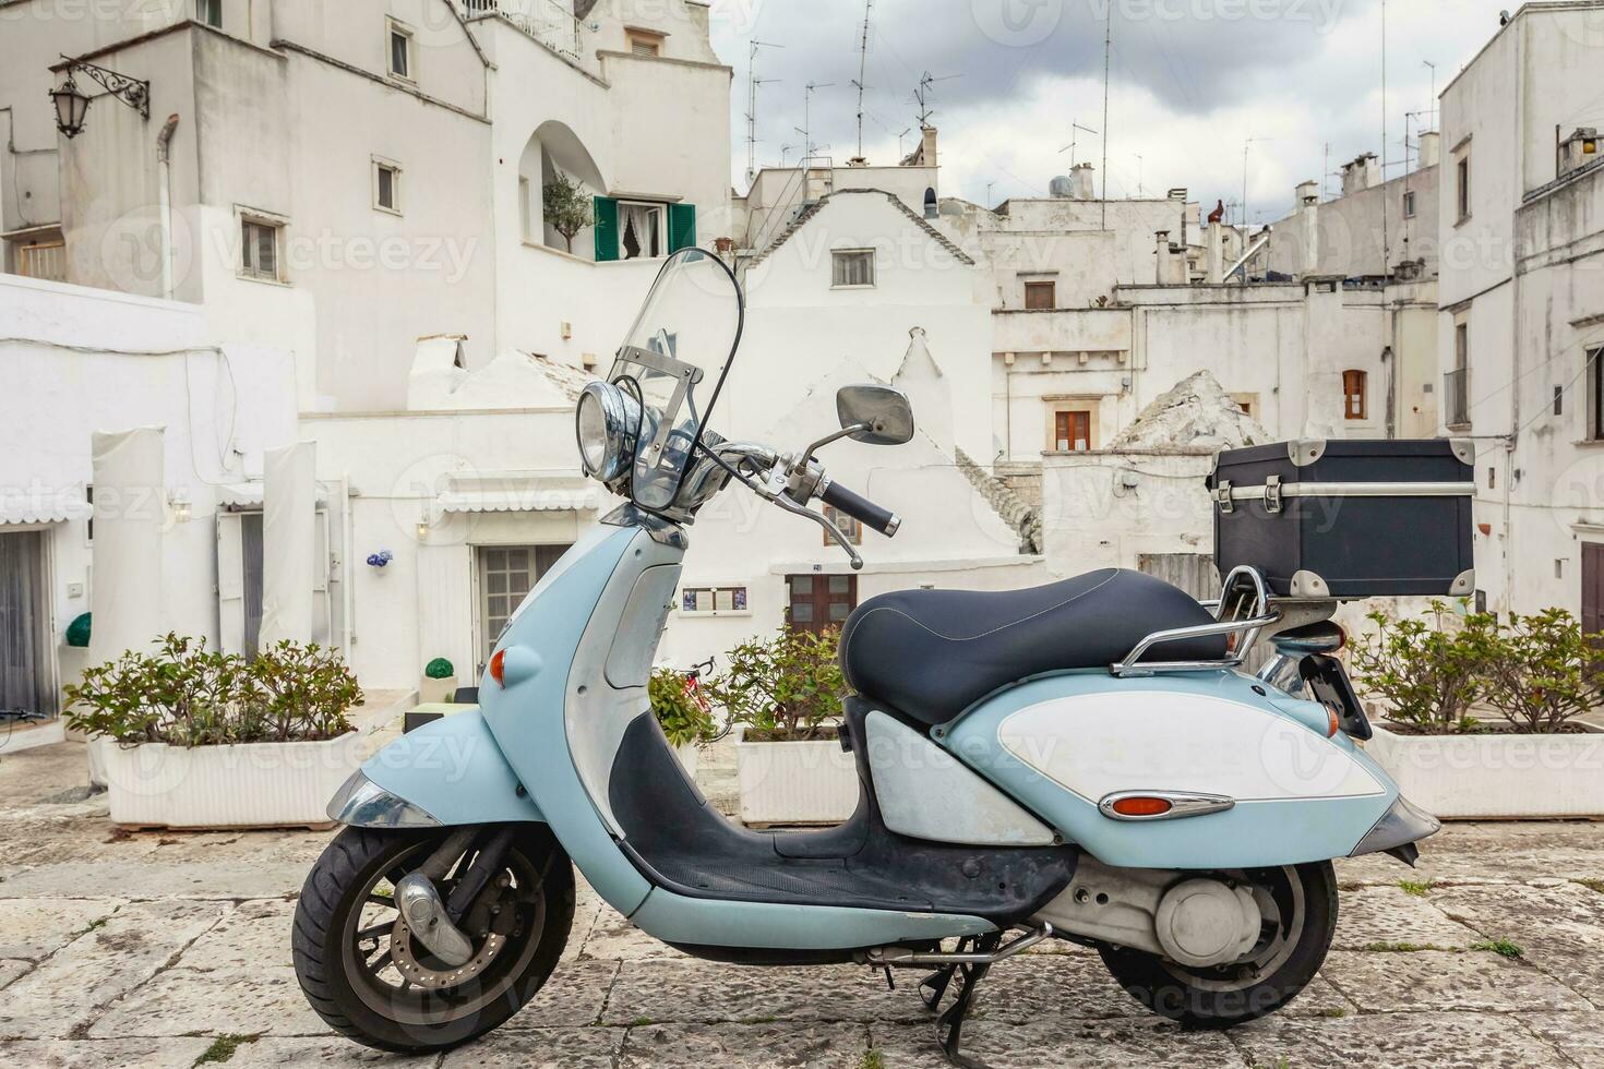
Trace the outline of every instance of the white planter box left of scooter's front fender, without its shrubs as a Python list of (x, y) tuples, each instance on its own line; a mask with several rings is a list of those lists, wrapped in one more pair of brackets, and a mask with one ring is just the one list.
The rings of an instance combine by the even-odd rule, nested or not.
[(326, 742), (101, 747), (111, 819), (135, 827), (327, 825), (329, 798), (364, 753), (354, 731)]

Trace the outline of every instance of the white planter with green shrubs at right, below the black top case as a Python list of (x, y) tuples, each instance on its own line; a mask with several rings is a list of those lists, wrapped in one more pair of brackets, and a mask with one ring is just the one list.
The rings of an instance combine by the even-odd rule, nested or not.
[[(1535, 615), (1371, 612), (1355, 684), (1381, 700), (1367, 750), (1442, 817), (1604, 816), (1604, 647), (1564, 609)], [(1474, 713), (1480, 713), (1479, 716)]]

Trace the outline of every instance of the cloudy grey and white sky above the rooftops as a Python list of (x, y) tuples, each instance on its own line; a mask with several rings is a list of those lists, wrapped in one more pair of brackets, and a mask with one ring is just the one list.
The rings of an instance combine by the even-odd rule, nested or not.
[[(1383, 109), (1381, 0), (874, 0), (863, 151), (895, 162), (911, 147), (924, 72), (940, 128), (942, 194), (996, 204), (1044, 196), (1070, 167), (1071, 123), (1104, 130), (1104, 26), (1112, 16), (1110, 197), (1187, 186), (1213, 207), (1240, 202), (1270, 221), (1293, 188), (1381, 147), (1404, 173), (1405, 130), (1434, 123), (1440, 88), (1497, 32), (1516, 0), (1389, 0)], [(714, 46), (735, 67), (730, 128), (736, 189), (746, 171), (747, 42), (759, 50), (757, 160), (796, 160), (807, 82), (812, 141), (837, 163), (857, 152), (863, 0), (714, 0)], [(1410, 115), (1416, 112), (1416, 115)], [(1102, 138), (1075, 135), (1081, 160)], [(1413, 152), (1413, 149), (1410, 149)], [(1330, 165), (1327, 167), (1327, 160)], [(1338, 180), (1327, 176), (1327, 189)], [(990, 200), (988, 200), (990, 189)], [(1237, 218), (1235, 208), (1232, 216)]]

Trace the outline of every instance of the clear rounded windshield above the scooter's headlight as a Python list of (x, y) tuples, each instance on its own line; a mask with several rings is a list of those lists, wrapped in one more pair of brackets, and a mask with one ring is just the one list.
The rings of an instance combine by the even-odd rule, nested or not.
[(640, 308), (608, 381), (643, 409), (630, 481), (642, 508), (667, 508), (719, 399), (741, 340), (741, 287), (703, 248), (667, 258)]

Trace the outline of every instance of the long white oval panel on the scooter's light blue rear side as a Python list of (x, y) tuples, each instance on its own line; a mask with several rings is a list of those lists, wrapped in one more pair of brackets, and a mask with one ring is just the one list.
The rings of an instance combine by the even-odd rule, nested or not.
[(998, 726), (1015, 758), (1096, 803), (1118, 790), (1237, 801), (1355, 798), (1383, 787), (1330, 739), (1219, 697), (1120, 691), (1060, 697)]

